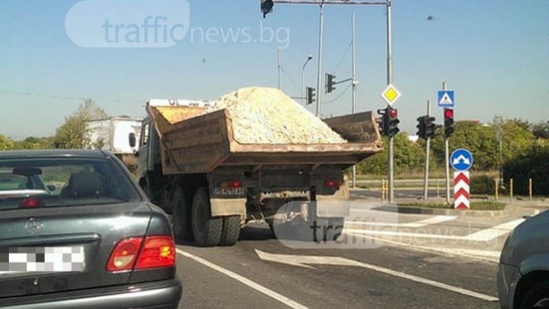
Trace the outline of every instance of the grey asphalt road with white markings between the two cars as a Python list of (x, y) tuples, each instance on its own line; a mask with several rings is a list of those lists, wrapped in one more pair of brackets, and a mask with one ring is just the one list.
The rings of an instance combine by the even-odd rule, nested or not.
[[(353, 207), (351, 216), (361, 211)], [(493, 232), (494, 226), (504, 230), (517, 218), (391, 216), (379, 220), (395, 229), (382, 231), (404, 237), (375, 249), (291, 249), (261, 226), (244, 229), (233, 247), (179, 244), (180, 308), (498, 308), (495, 254), (506, 233), (484, 239), (496, 244), (490, 251), (482, 250), (482, 237), (457, 240)], [(358, 225), (347, 225), (345, 235), (369, 238), (360, 233), (369, 229)], [(412, 237), (425, 235), (426, 228), (449, 238)]]

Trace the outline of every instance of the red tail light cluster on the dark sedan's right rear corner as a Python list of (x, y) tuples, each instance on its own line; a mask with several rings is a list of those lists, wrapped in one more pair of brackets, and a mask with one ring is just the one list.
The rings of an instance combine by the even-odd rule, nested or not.
[(146, 236), (121, 240), (110, 253), (107, 271), (130, 271), (171, 267), (175, 265), (175, 243), (172, 236)]

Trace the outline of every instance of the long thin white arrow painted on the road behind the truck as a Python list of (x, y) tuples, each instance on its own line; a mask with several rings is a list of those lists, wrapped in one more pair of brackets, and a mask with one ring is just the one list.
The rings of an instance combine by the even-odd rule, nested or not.
[[(467, 290), (465, 288), (459, 288), (458, 286), (451, 286), (449, 284), (443, 284), (442, 282), (437, 282), (431, 279), (425, 279), (423, 277), (418, 277), (415, 275), (410, 275), (408, 273), (401, 273), (400, 271), (393, 271), (389, 268), (384, 268), (380, 266), (375, 266), (372, 264), (366, 264), (363, 262), (358, 262), (355, 260), (349, 260), (347, 258), (340, 258), (335, 256), (306, 256), (306, 255), (286, 255), (286, 254), (273, 254), (266, 253), (255, 249), (255, 253), (261, 260), (268, 260), (270, 262), (279, 262), (283, 264), (291, 264), (297, 266), (296, 264), (329, 264), (329, 265), (340, 265), (340, 266), (357, 266), (371, 271), (377, 271), (378, 273), (384, 273), (386, 275), (392, 275), (394, 277), (399, 277), (403, 279), (408, 279), (413, 282), (419, 282), (421, 284), (427, 284), (430, 286), (436, 286), (437, 288), (442, 288), (444, 290), (449, 290), (451, 292), (460, 293), (462, 295), (467, 295), (470, 297), (475, 297), (485, 301), (498, 301), (497, 297), (490, 295), (485, 295), (482, 293), (477, 293), (472, 290)], [(288, 263), (290, 262), (290, 263)]]

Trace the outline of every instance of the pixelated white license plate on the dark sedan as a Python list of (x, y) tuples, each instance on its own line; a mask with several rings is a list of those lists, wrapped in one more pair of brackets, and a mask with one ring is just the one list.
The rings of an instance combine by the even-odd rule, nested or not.
[(0, 276), (30, 272), (84, 271), (84, 247), (19, 247), (0, 249)]

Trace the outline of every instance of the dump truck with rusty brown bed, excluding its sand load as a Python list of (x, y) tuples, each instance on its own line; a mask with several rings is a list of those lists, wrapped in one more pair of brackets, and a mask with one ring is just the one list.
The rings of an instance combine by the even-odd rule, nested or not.
[(213, 105), (149, 100), (139, 146), (129, 137), (138, 147), (139, 185), (172, 214), (177, 239), (233, 245), (250, 220), (271, 229), (317, 218), (342, 227), (349, 215), (344, 171), (382, 150), (372, 112), (323, 120), (345, 143), (242, 144), (233, 134), (235, 115), (226, 108), (209, 112)]

